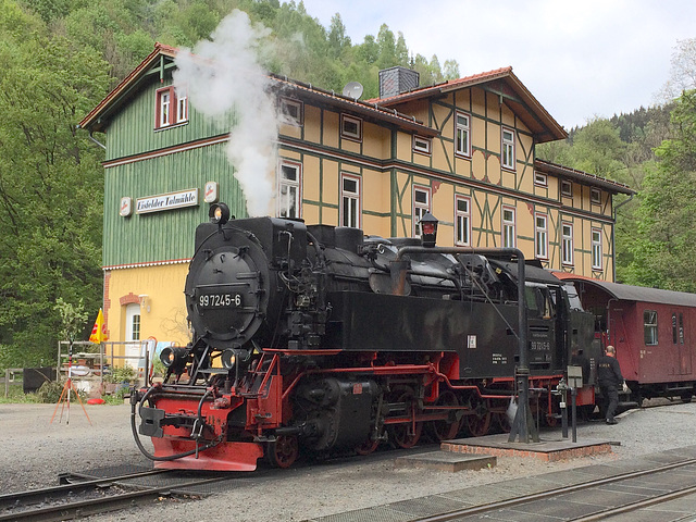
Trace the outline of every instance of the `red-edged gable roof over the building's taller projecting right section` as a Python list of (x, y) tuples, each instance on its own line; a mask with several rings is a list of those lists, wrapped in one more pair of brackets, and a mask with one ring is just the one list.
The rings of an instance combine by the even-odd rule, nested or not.
[(409, 101), (428, 98), (437, 95), (445, 95), (453, 90), (482, 86), (488, 92), (493, 92), (500, 98), (514, 112), (518, 117), (532, 130), (537, 142), (554, 141), (564, 139), (568, 133), (563, 127), (544, 109), (529, 89), (512, 73), (512, 67), (501, 67), (487, 73), (474, 74), (459, 79), (450, 79), (442, 84), (435, 84), (418, 89), (409, 90), (389, 98), (376, 98), (368, 102), (378, 103), (382, 107), (396, 107)]

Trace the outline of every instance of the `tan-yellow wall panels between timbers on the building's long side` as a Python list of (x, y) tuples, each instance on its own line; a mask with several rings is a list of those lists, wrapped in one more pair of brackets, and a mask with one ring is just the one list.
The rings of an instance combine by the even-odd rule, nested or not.
[[(430, 154), (413, 150), (411, 132), (397, 130), (396, 144), (391, 142), (394, 130), (386, 125), (362, 121), (363, 139), (358, 142), (340, 137), (340, 112), (304, 104), (304, 140), (318, 145), (304, 154), (288, 154), (303, 164), (302, 217), (308, 223), (335, 225), (339, 219), (341, 172), (359, 176), (361, 181), (361, 226), (366, 234), (411, 236), (413, 185), (432, 190), (431, 211), (440, 220), (438, 243), (455, 244), (455, 192), (471, 197), (471, 244), (481, 247), (500, 247), (502, 244), (502, 206), (515, 208), (517, 246), (526, 257), (534, 257), (534, 213), (548, 216), (549, 258), (545, 262), (550, 269), (561, 270), (560, 224), (568, 221), (567, 211), (599, 213), (611, 217), (611, 196), (602, 191), (601, 204), (591, 204), (589, 187), (573, 183), (573, 197), (560, 196), (560, 182), (547, 175), (547, 186), (534, 183), (534, 142), (530, 130), (498, 95), (486, 92), (474, 86), (449, 92), (433, 100), (405, 102), (397, 108), (401, 113), (435, 127), (440, 134), (432, 138)], [(472, 157), (455, 154), (456, 112), (470, 116)], [(321, 125), (323, 124), (323, 127)], [(501, 127), (515, 130), (515, 170), (501, 169)], [(320, 128), (321, 127), (321, 128)], [(289, 129), (296, 137), (297, 129)], [(397, 167), (382, 161), (395, 160), (408, 165)], [(319, 157), (318, 157), (319, 156)], [(428, 173), (432, 172), (432, 175)], [(396, 187), (393, 187), (393, 176)], [(475, 185), (470, 184), (475, 182)], [(508, 194), (506, 194), (508, 192)], [(519, 198), (509, 194), (514, 192)], [(574, 271), (582, 275), (610, 273), (611, 252), (609, 240), (602, 241), (605, 273), (593, 273), (592, 225), (588, 217), (570, 214), (574, 234)], [(606, 234), (611, 225), (600, 223)]]

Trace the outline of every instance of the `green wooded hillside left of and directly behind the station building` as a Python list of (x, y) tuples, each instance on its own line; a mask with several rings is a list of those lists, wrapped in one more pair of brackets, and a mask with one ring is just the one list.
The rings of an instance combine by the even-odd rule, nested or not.
[(353, 45), (301, 1), (0, 0), (0, 368), (53, 363), (59, 299), (101, 304), (103, 152), (77, 122), (154, 41), (194, 46), (233, 9), (272, 29), (271, 71), (323, 88), (377, 96), (378, 67), (409, 64), (403, 35)]

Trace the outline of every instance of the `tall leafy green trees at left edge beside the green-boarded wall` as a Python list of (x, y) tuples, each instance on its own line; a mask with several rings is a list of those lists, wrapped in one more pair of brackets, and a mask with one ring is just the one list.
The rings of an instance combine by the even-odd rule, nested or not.
[(101, 301), (101, 153), (76, 123), (104, 95), (107, 63), (9, 1), (0, 63), (0, 366), (48, 364), (57, 299)]

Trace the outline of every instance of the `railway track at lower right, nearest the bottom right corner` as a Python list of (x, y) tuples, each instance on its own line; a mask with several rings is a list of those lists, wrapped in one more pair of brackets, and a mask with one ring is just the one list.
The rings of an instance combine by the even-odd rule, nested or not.
[[(667, 486), (666, 484), (673, 484), (675, 481), (664, 477), (668, 476), (669, 473), (676, 471), (683, 471), (683, 473), (679, 474), (680, 481), (678, 481), (682, 482), (682, 484), (673, 485), (673, 487)], [(639, 488), (637, 484), (639, 484), (639, 482), (635, 481), (641, 478), (645, 480), (645, 487), (642, 488), (641, 494), (631, 493), (625, 498), (634, 498), (630, 500), (621, 499), (618, 493), (622, 489), (624, 493), (630, 489), (637, 492)], [(661, 482), (661, 480), (663, 482)], [(655, 487), (655, 484), (660, 484), (661, 486)], [(601, 506), (602, 502), (596, 499), (606, 497), (607, 492), (617, 493), (614, 495), (614, 504), (611, 506)], [(580, 501), (577, 495), (575, 495), (579, 493), (583, 494), (583, 497), (586, 499), (585, 502)], [(468, 507), (445, 513), (414, 518), (410, 519), (410, 522), (467, 522), (481, 520), (482, 515), (498, 520), (495, 513), (500, 513), (501, 511), (506, 513), (505, 520), (514, 521), (514, 512), (517, 512), (521, 519), (529, 520), (530, 513), (533, 512), (547, 514), (544, 512), (545, 507), (552, 509), (555, 520), (594, 522), (606, 520), (612, 515), (620, 515), (638, 509), (655, 507), (692, 494), (696, 494), (696, 459), (660, 465), (650, 470), (622, 473), (620, 475), (588, 481), (572, 486), (563, 486), (483, 506)], [(572, 499), (573, 496), (575, 496), (575, 499)], [(560, 501), (563, 497), (568, 497), (569, 502)], [(574, 505), (569, 505), (572, 502), (574, 502)], [(550, 512), (548, 514), (550, 514)]]

